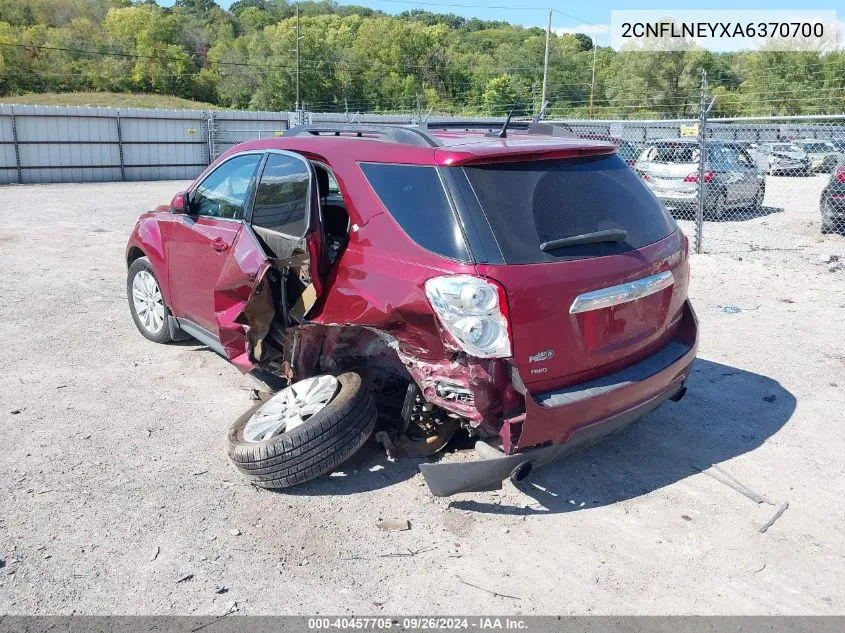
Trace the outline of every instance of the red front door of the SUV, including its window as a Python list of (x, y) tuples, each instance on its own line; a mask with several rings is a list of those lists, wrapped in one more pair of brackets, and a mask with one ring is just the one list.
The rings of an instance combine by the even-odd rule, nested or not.
[(243, 228), (261, 153), (221, 163), (189, 192), (188, 212), (169, 223), (166, 257), (172, 310), (219, 338), (214, 289)]

